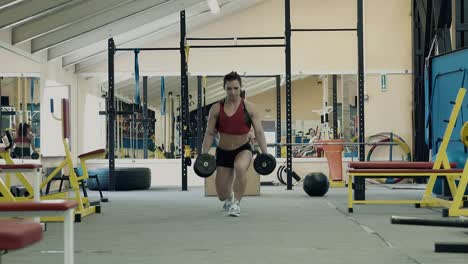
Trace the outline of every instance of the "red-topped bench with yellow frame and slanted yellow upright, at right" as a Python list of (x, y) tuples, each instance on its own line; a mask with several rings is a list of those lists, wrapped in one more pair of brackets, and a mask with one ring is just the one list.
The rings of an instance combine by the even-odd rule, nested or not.
[[(442, 207), (443, 216), (468, 216), (468, 208), (464, 207), (464, 194), (468, 183), (468, 162), (462, 169), (454, 169), (449, 163), (447, 147), (455, 127), (455, 123), (466, 94), (465, 88), (460, 88), (453, 102), (452, 112), (444, 132), (442, 143), (434, 163), (421, 162), (357, 162), (348, 166), (348, 212), (353, 212), (353, 204), (415, 204), (416, 207)], [(354, 200), (353, 190), (355, 177), (364, 178), (414, 178), (429, 177), (426, 190), (421, 200)], [(445, 177), (453, 197), (453, 201), (436, 198), (432, 195), (437, 177)], [(459, 179), (458, 186), (455, 179)], [(365, 190), (358, 190), (365, 191)]]

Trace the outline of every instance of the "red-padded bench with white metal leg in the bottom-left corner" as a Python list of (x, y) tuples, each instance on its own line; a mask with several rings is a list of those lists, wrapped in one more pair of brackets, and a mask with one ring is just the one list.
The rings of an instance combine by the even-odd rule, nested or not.
[[(64, 264), (74, 262), (73, 211), (78, 206), (76, 201), (47, 200), (39, 202), (4, 202), (0, 203), (0, 217), (37, 217), (58, 216), (65, 220), (64, 225)], [(8, 225), (3, 225), (8, 221)], [(4, 231), (4, 232), (3, 232)], [(15, 238), (12, 240), (11, 238)], [(42, 238), (40, 223), (24, 222), (18, 219), (0, 221), (0, 249), (20, 249)]]

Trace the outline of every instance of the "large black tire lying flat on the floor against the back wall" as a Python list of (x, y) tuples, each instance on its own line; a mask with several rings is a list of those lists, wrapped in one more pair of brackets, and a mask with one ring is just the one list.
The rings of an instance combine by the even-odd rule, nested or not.
[[(89, 170), (89, 175), (97, 175), (101, 190), (109, 190), (109, 168)], [(151, 170), (148, 168), (115, 168), (115, 190), (148, 190), (151, 186)], [(97, 191), (95, 179), (88, 179), (88, 189)]]

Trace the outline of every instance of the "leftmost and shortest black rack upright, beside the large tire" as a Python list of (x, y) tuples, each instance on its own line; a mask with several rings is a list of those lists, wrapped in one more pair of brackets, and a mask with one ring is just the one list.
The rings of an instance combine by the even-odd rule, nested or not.
[(108, 124), (108, 146), (109, 146), (109, 191), (115, 191), (115, 138), (114, 138), (114, 123), (115, 123), (115, 97), (114, 97), (114, 54), (115, 44), (114, 39), (108, 40), (108, 83), (109, 89), (107, 93), (107, 124)]

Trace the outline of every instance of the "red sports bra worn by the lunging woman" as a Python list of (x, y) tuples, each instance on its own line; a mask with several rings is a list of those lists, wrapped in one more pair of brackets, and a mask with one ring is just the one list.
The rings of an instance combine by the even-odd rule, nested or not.
[(219, 102), (219, 115), (216, 122), (216, 129), (219, 132), (243, 135), (249, 133), (251, 127), (252, 120), (250, 119), (243, 99), (232, 116), (228, 116), (226, 112), (224, 112), (224, 100)]

